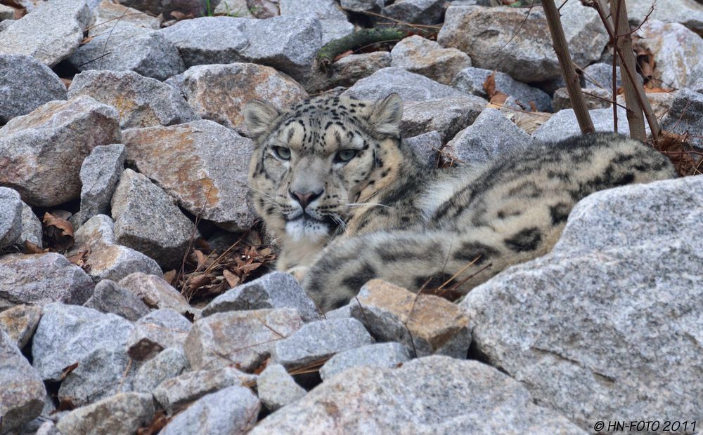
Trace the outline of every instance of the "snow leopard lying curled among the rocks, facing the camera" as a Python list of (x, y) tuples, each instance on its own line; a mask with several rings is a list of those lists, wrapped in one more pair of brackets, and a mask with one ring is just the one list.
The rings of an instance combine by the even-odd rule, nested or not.
[(276, 268), (323, 312), (370, 279), (456, 299), (548, 253), (588, 194), (676, 176), (666, 156), (614, 133), (432, 170), (404, 146), (402, 116), (396, 93), (245, 106), (250, 199), (280, 244)]

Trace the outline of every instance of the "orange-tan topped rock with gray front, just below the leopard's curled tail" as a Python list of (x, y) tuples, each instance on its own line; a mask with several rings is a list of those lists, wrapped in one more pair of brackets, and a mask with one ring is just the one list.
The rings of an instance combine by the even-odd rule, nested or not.
[(415, 356), (466, 358), (471, 344), (469, 319), (456, 304), (434, 295), (415, 295), (378, 279), (364, 284), (356, 299), (360, 305), (352, 305), (352, 316), (377, 340), (400, 342)]

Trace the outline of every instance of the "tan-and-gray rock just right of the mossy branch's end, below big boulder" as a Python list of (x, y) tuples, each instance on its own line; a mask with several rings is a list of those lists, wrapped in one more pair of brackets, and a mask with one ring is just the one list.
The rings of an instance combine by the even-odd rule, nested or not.
[(456, 48), (443, 48), (422, 36), (401, 40), (391, 51), (391, 66), (422, 74), (439, 83), (450, 84), (454, 76), (471, 66), (471, 58)]

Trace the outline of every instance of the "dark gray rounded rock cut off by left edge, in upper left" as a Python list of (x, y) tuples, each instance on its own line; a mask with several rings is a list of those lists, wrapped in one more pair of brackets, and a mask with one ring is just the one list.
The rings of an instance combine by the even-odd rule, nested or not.
[(58, 76), (30, 55), (0, 54), (0, 88), (0, 124), (45, 102), (66, 99), (66, 86)]

